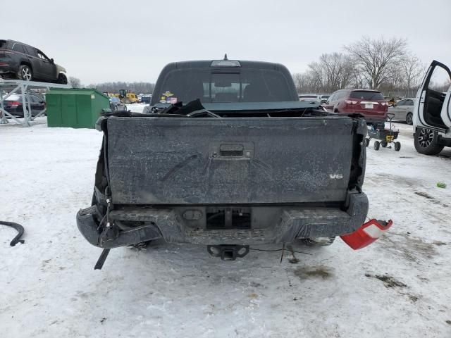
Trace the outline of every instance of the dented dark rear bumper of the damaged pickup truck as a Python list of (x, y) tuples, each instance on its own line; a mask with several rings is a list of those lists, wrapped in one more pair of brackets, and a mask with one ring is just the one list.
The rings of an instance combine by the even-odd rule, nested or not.
[(190, 227), (173, 208), (118, 208), (111, 211), (110, 219), (139, 223), (137, 227), (119, 230), (114, 239), (99, 241), (99, 215), (96, 206), (80, 210), (77, 225), (89, 243), (104, 249), (136, 244), (163, 238), (166, 242), (203, 245), (278, 244), (295, 239), (332, 237), (350, 234), (365, 221), (368, 199), (364, 193), (351, 194), (347, 211), (328, 207), (280, 207), (280, 218), (269, 227), (254, 229), (206, 230)]

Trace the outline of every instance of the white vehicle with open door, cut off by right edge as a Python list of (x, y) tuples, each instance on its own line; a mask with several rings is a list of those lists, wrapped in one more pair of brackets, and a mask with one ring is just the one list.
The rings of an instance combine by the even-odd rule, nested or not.
[(435, 155), (451, 146), (451, 71), (433, 61), (416, 93), (414, 142), (420, 154)]

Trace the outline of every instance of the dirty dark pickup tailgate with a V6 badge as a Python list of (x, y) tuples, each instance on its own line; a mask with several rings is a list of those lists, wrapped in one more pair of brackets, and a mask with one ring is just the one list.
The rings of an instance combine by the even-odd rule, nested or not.
[(347, 117), (109, 118), (113, 203), (345, 201), (353, 152), (364, 156), (357, 123)]

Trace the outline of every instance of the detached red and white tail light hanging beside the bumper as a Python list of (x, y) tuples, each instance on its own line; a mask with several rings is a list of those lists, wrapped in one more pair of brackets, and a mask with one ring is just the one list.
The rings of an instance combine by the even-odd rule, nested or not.
[(385, 222), (385, 220), (376, 220), (373, 218), (364, 223), (362, 227), (359, 227), (359, 229), (352, 232), (352, 234), (345, 234), (340, 237), (352, 249), (358, 250), (375, 242), (376, 239), (381, 237), (382, 234), (392, 226), (392, 224), (392, 220)]

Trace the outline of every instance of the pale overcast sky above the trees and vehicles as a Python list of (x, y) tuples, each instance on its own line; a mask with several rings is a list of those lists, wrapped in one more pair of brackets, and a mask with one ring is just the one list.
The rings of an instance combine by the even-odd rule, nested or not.
[(168, 62), (224, 53), (298, 73), (362, 35), (405, 37), (424, 63), (451, 65), (451, 0), (20, 0), (0, 19), (0, 39), (42, 49), (83, 84), (154, 82)]

